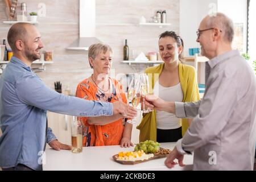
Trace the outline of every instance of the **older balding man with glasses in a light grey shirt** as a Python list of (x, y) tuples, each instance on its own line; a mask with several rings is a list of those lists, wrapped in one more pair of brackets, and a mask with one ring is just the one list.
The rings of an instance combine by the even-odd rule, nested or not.
[(175, 159), (184, 166), (184, 154), (194, 152), (194, 170), (253, 170), (256, 81), (240, 52), (232, 50), (233, 36), (233, 22), (224, 14), (208, 15), (200, 23), (196, 41), (209, 59), (203, 100), (183, 103), (146, 98), (147, 105), (157, 110), (194, 118), (167, 156), (169, 168)]

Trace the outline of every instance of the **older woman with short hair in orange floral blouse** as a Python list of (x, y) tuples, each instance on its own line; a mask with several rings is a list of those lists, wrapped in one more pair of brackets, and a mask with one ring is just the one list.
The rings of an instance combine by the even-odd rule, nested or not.
[[(93, 74), (80, 82), (77, 86), (76, 96), (86, 100), (102, 102), (127, 102), (122, 85), (109, 77), (112, 65), (112, 49), (106, 44), (93, 44), (88, 52), (90, 67)], [(131, 111), (135, 111), (131, 110)], [(130, 111), (130, 112), (131, 112)], [(133, 146), (131, 130), (133, 125), (125, 122), (125, 118), (112, 117), (83, 117), (85, 125), (83, 146)]]

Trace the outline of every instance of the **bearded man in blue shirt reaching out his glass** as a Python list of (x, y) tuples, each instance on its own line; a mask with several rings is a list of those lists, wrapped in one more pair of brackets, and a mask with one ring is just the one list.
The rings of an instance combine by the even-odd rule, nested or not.
[(14, 52), (0, 79), (0, 167), (3, 170), (42, 170), (46, 142), (55, 150), (71, 150), (47, 127), (47, 110), (80, 117), (119, 114), (134, 118), (136, 109), (123, 102), (87, 101), (48, 88), (31, 70), (43, 48), (38, 29), (14, 24), (7, 36)]

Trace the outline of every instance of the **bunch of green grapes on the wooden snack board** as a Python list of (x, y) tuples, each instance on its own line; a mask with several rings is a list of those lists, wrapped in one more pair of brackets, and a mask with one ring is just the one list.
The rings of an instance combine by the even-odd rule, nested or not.
[(146, 140), (144, 142), (138, 143), (134, 150), (139, 151), (143, 150), (146, 154), (152, 154), (154, 152), (157, 152), (160, 148), (160, 144), (158, 142), (154, 142), (152, 140)]

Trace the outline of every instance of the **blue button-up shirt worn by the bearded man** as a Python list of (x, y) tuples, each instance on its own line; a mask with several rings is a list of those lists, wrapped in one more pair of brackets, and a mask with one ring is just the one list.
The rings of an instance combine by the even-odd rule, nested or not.
[(13, 56), (0, 78), (0, 167), (42, 169), (44, 144), (56, 139), (49, 128), (46, 137), (47, 110), (92, 117), (112, 115), (113, 105), (59, 94)]

